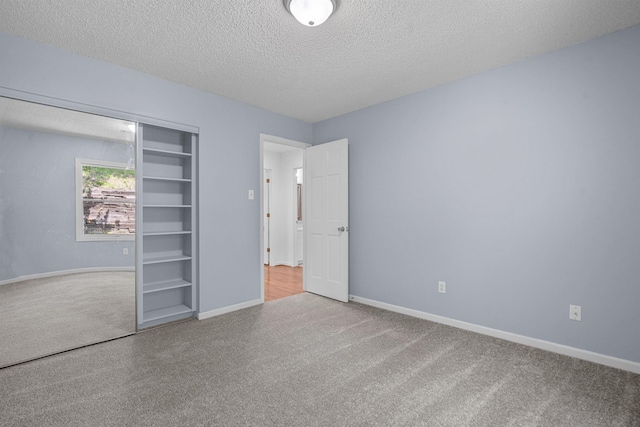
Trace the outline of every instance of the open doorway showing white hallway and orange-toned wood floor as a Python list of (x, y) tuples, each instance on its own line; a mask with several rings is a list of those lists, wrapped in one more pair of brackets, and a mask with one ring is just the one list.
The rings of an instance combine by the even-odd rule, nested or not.
[(263, 301), (304, 292), (304, 148), (261, 135)]

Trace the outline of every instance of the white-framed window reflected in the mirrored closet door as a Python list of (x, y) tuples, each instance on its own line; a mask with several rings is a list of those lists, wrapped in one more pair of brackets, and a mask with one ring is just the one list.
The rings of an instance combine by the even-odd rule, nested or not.
[(76, 159), (76, 240), (133, 240), (135, 182), (128, 164)]

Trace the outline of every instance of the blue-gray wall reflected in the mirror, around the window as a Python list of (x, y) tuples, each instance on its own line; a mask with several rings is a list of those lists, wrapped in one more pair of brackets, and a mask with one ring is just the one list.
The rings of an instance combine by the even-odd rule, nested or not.
[(0, 281), (134, 266), (133, 241), (77, 242), (75, 222), (76, 157), (128, 163), (134, 147), (0, 126), (0, 153)]

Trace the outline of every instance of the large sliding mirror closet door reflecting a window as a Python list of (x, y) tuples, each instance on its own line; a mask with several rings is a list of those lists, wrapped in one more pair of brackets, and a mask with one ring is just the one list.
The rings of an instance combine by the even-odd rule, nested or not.
[(135, 129), (0, 97), (0, 366), (136, 331)]

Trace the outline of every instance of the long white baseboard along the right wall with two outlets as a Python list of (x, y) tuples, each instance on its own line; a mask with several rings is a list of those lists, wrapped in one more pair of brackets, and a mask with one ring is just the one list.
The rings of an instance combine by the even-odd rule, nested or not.
[(411, 308), (405, 308), (398, 305), (387, 304), (384, 302), (362, 298), (355, 295), (350, 295), (349, 301), (370, 305), (372, 307), (377, 307), (383, 310), (393, 311), (396, 313), (406, 314), (407, 316), (430, 320), (436, 323), (442, 323), (443, 325), (453, 326), (455, 328), (476, 332), (478, 334), (488, 335), (488, 336), (500, 338), (506, 341), (528, 345), (529, 347), (539, 348), (541, 350), (547, 350), (553, 353), (575, 357), (576, 359), (582, 359), (588, 362), (599, 363), (601, 365), (609, 366), (612, 368), (622, 369), (625, 371), (640, 374), (640, 363), (633, 362), (631, 360), (619, 359), (617, 357), (607, 356), (600, 353), (594, 353), (592, 351), (582, 350), (575, 347), (569, 347), (562, 344), (556, 344), (550, 341), (530, 338), (524, 335), (513, 334), (511, 332), (504, 332), (498, 329), (487, 328), (485, 326), (475, 325), (473, 323), (467, 323), (460, 320), (450, 319), (448, 317), (438, 316), (435, 314), (430, 314), (424, 311), (414, 310)]

